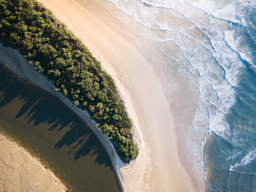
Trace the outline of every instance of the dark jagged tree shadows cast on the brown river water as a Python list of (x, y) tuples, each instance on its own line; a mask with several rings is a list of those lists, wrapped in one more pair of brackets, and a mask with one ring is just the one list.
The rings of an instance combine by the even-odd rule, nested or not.
[(49, 127), (46, 130), (52, 134), (55, 134), (54, 130), (65, 130), (65, 134), (54, 148), (58, 150), (73, 145), (67, 155), (73, 155), (74, 160), (90, 154), (94, 156), (95, 164), (113, 169), (105, 147), (82, 118), (51, 93), (28, 83), (0, 65), (0, 108), (15, 98), (22, 100), (22, 107), (16, 114), (16, 119), (24, 116), (26, 124), (32, 122), (33, 127), (47, 123)]

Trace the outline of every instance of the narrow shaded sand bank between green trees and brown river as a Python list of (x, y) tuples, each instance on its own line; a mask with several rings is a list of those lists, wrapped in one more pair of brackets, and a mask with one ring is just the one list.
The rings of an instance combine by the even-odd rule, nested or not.
[[(74, 106), (74, 104), (67, 99), (64, 95), (56, 92), (54, 85), (40, 73), (38, 73), (33, 66), (31, 66), (26, 59), (18, 53), (18, 51), (3, 47), (0, 43), (0, 61), (3, 62), (10, 70), (16, 73), (19, 77), (25, 78), (31, 83), (43, 88), (44, 90), (55, 95), (59, 100), (61, 100), (65, 105), (67, 105), (72, 111), (78, 114), (86, 123), (90, 126), (91, 130), (97, 135), (101, 143), (104, 145), (108, 154), (110, 156), (111, 162), (113, 164), (116, 179), (118, 180), (120, 190), (123, 192), (123, 186), (118, 177), (118, 172), (116, 166), (124, 166), (121, 159), (114, 150), (113, 144), (108, 140), (108, 137), (97, 129), (95, 122), (90, 118), (89, 114)], [(18, 62), (17, 62), (18, 61)]]

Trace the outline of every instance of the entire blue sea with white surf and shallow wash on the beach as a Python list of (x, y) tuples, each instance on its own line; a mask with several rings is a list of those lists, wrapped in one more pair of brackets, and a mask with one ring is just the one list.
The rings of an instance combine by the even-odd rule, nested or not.
[(166, 97), (206, 191), (255, 191), (256, 1), (93, 2), (127, 26), (163, 71)]

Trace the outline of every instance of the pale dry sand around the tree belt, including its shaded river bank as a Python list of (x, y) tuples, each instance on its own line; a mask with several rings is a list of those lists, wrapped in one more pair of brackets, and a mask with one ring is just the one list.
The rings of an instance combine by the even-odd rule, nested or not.
[[(103, 69), (115, 80), (125, 102), (134, 123), (134, 137), (140, 149), (136, 160), (124, 165), (106, 136), (95, 129), (109, 154), (113, 154), (110, 156), (124, 191), (202, 191), (203, 182), (190, 169), (185, 146), (177, 145), (177, 141), (182, 138), (180, 134), (176, 135), (174, 120), (171, 118), (175, 111), (171, 112), (162, 83), (150, 61), (129, 42), (125, 34), (117, 33), (106, 23), (106, 19), (97, 17), (77, 1), (40, 2), (67, 24), (101, 61)], [(4, 59), (4, 55), (13, 53), (8, 52), (8, 48), (1, 49), (0, 58), (6, 65), (9, 63), (10, 69), (56, 94), (82, 118), (86, 118), (84, 111), (75, 108), (68, 99), (56, 93), (55, 88), (47, 79), (35, 73), (33, 67), (25, 64), (12, 66), (11, 62)], [(88, 116), (86, 121), (91, 127), (95, 127)], [(184, 167), (181, 162), (188, 163), (188, 166)]]

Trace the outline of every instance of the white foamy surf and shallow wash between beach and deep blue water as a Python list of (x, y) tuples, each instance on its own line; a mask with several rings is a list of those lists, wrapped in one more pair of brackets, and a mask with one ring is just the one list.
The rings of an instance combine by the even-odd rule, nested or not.
[[(250, 47), (242, 42), (250, 24), (250, 14), (244, 9), (254, 10), (255, 2), (94, 1), (144, 39), (143, 50), (154, 50), (151, 56), (146, 53), (148, 58), (168, 67), (166, 70), (174, 77), (172, 89), (177, 89), (172, 92), (180, 93), (175, 98), (183, 98), (185, 102), (184, 105), (179, 100), (176, 105), (195, 114), (190, 123), (182, 118), (179, 123), (187, 135), (190, 161), (195, 170), (204, 172), (204, 144), (211, 132), (225, 135), (228, 129), (225, 117), (236, 103), (239, 77), (246, 63), (253, 61)], [(189, 111), (188, 102), (194, 102), (197, 109)], [(184, 117), (187, 118), (186, 114)]]

